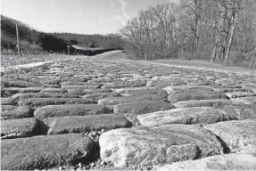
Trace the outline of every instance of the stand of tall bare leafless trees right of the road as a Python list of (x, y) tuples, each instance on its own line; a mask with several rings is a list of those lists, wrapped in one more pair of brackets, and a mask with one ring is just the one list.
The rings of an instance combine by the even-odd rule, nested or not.
[(255, 23), (255, 0), (179, 0), (139, 12), (120, 33), (136, 59), (238, 62), (255, 56)]

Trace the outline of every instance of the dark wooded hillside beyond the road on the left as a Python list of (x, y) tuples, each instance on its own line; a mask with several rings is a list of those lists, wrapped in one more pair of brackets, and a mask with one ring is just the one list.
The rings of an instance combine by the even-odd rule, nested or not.
[(91, 48), (123, 49), (119, 35), (80, 35), (72, 33), (44, 33), (30, 28), (18, 20), (1, 15), (1, 52), (17, 52), (16, 27), (19, 25), (21, 51), (23, 53), (67, 53), (67, 45)]

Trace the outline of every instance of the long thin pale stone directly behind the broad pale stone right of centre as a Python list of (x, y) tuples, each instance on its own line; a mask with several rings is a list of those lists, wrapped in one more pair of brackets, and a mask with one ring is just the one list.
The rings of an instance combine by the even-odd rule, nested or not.
[(182, 101), (173, 103), (176, 108), (192, 107), (213, 107), (222, 109), (224, 106), (231, 105), (232, 101), (226, 99), (200, 100), (200, 101)]

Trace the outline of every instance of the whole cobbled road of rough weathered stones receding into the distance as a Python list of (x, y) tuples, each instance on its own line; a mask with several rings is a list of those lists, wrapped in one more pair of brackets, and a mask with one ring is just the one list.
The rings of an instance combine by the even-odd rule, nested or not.
[(2, 169), (256, 169), (255, 76), (120, 52), (44, 65), (2, 83)]

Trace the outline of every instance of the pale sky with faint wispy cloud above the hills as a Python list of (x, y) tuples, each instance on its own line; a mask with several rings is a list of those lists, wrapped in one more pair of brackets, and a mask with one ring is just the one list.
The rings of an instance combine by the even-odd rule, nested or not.
[(116, 33), (148, 6), (174, 0), (0, 0), (4, 16), (45, 32)]

